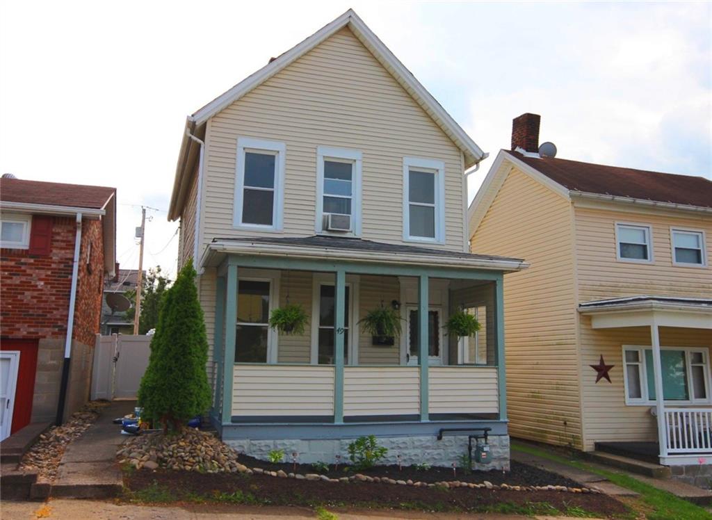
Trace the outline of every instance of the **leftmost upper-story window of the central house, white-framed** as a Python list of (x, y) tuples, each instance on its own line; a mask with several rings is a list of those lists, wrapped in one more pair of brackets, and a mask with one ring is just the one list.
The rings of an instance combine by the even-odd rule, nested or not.
[(282, 228), (285, 153), (283, 142), (239, 137), (233, 216), (235, 227)]

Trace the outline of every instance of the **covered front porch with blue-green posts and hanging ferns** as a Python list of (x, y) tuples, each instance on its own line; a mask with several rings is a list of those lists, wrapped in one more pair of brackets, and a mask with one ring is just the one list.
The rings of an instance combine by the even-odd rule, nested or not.
[[(216, 241), (213, 420), (224, 438), (506, 435), (503, 274), (521, 261), (358, 239)], [(298, 333), (268, 325), (296, 304)], [(401, 333), (365, 330), (391, 308)], [(449, 334), (454, 311), (481, 330)], [(488, 429), (488, 430), (485, 430)]]

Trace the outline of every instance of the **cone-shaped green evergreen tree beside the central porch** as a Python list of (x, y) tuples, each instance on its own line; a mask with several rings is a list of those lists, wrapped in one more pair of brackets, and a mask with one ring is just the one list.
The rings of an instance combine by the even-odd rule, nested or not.
[(161, 422), (164, 433), (182, 430), (211, 402), (205, 371), (208, 340), (195, 274), (189, 261), (167, 293), (139, 390), (145, 415)]

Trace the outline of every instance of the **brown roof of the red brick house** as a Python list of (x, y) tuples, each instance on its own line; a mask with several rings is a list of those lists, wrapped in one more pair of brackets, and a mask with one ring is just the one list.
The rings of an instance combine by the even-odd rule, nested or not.
[(0, 179), (0, 202), (102, 209), (116, 188), (35, 180)]

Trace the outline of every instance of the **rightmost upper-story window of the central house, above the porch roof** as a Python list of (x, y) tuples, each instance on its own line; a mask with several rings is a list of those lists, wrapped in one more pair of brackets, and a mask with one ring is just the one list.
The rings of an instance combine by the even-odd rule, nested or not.
[(403, 239), (443, 242), (445, 165), (442, 161), (403, 158)]

